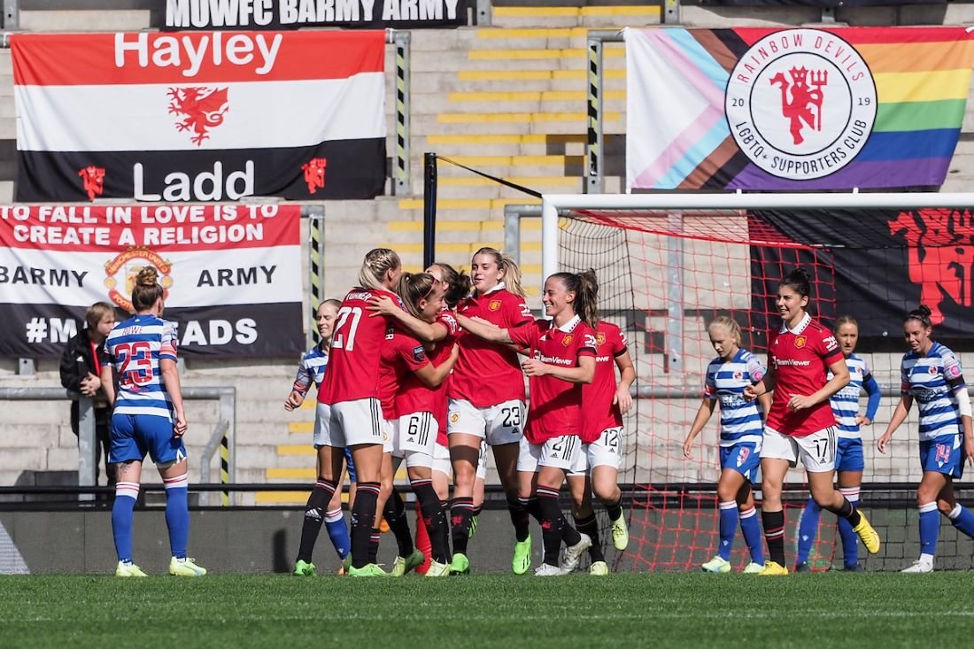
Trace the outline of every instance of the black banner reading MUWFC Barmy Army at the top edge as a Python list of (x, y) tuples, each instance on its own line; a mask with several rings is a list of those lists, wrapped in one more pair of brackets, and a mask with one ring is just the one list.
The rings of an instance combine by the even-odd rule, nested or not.
[(459, 27), (467, 7), (467, 0), (167, 0), (162, 29)]

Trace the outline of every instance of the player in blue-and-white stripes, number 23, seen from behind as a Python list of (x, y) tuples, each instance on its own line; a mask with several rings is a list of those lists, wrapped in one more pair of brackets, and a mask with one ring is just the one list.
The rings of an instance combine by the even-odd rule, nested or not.
[(186, 556), (189, 480), (183, 435), (189, 427), (176, 369), (175, 327), (162, 318), (165, 293), (155, 268), (140, 270), (131, 290), (135, 315), (115, 325), (105, 340), (109, 362), (102, 368), (101, 385), (114, 406), (109, 459), (118, 476), (112, 506), (118, 577), (145, 577), (132, 561), (131, 521), (146, 453), (166, 486), (169, 574), (206, 575), (206, 568)]

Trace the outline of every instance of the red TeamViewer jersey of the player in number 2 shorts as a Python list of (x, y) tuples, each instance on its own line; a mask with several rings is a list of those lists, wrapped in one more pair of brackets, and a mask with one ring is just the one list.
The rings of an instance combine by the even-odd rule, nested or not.
[[(528, 347), (542, 363), (577, 367), (582, 356), (595, 356), (595, 332), (576, 317), (564, 327), (537, 320), (509, 329), (510, 339)], [(563, 435), (581, 436), (581, 383), (569, 383), (550, 375), (532, 376), (531, 402), (524, 436), (541, 444)]]

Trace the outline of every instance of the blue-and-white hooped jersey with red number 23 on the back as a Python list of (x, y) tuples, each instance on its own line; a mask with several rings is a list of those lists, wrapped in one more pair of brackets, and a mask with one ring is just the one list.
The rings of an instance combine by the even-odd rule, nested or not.
[(105, 340), (105, 350), (119, 383), (114, 411), (172, 421), (159, 361), (176, 360), (175, 326), (152, 315), (132, 316), (115, 325)]

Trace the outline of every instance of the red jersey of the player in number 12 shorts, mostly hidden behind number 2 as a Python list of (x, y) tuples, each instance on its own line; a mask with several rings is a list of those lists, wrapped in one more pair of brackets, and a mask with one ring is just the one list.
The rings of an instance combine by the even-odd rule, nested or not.
[(595, 376), (591, 383), (582, 384), (581, 443), (588, 444), (607, 428), (622, 425), (622, 413), (616, 398), (616, 359), (627, 351), (627, 341), (617, 325), (599, 322), (595, 327)]

